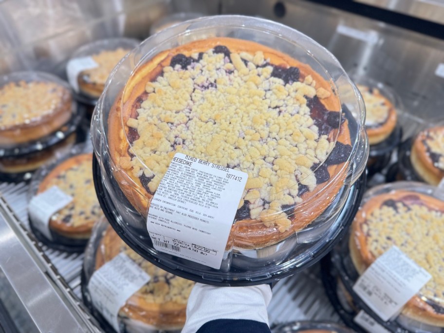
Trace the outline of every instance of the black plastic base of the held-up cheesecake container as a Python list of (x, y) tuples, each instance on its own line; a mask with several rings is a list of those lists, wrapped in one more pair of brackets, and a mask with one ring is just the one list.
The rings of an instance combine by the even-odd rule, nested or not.
[[(134, 242), (131, 237), (128, 235), (128, 232), (121, 227), (121, 225), (117, 222), (117, 220), (122, 221), (121, 216), (117, 212), (114, 203), (112, 202), (110, 198), (110, 194), (105, 189), (105, 186), (102, 182), (102, 173), (100, 170), (99, 163), (97, 161), (97, 158), (95, 155), (93, 156), (92, 160), (92, 175), (94, 180), (94, 186), (97, 193), (97, 197), (100, 203), (100, 206), (102, 207), (102, 210), (110, 222), (111, 226), (114, 228), (114, 230), (117, 232), (117, 234), (120, 236), (122, 240), (124, 240), (129, 247), (131, 247), (135, 252), (137, 252), (139, 255), (141, 255), (143, 258), (147, 259), (149, 262), (153, 263), (154, 265), (158, 266), (159, 268), (172, 273), (174, 275), (177, 275), (179, 277), (183, 277), (189, 280), (193, 280), (195, 282), (201, 282), (205, 284), (211, 284), (216, 286), (250, 286), (250, 285), (258, 285), (263, 283), (272, 283), (277, 280), (280, 280), (284, 277), (294, 275), (303, 269), (306, 269), (312, 265), (314, 265), (316, 262), (318, 262), (322, 257), (324, 257), (332, 248), (333, 246), (342, 239), (342, 237), (347, 233), (349, 226), (351, 225), (351, 222), (357, 212), (357, 209), (359, 207), (359, 204), (361, 202), (362, 196), (364, 194), (365, 186), (366, 186), (366, 174), (363, 173), (360, 178), (355, 182), (354, 185), (351, 186), (349, 196), (346, 199), (346, 203), (344, 204), (344, 207), (342, 208), (341, 212), (339, 213), (339, 216), (337, 219), (342, 222), (342, 224), (338, 227), (338, 231), (336, 235), (333, 237), (333, 239), (328, 240), (323, 247), (321, 247), (316, 253), (312, 253), (309, 260), (306, 260), (303, 264), (288, 268), (285, 271), (280, 271), (274, 274), (268, 274), (268, 277), (263, 279), (257, 279), (257, 280), (251, 280), (251, 279), (233, 279), (233, 280), (226, 280), (226, 279), (207, 279), (203, 278), (202, 275), (198, 274), (190, 274), (188, 272), (184, 272), (180, 269), (173, 269), (166, 264), (164, 264), (159, 258), (150, 255), (147, 253), (147, 251)], [(116, 184), (116, 186), (118, 186)], [(126, 203), (130, 206), (130, 203)], [(128, 206), (128, 207), (129, 207)], [(150, 242), (149, 239), (147, 239), (147, 242)], [(166, 255), (166, 254), (163, 254)], [(172, 258), (173, 256), (171, 256)], [(178, 261), (180, 261), (178, 259)], [(198, 265), (198, 264), (196, 264)], [(236, 272), (241, 272), (240, 269), (236, 268)]]

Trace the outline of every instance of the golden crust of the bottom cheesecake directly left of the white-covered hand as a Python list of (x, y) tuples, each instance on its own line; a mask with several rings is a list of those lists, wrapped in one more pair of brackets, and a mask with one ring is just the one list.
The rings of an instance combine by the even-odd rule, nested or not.
[[(96, 256), (95, 256), (95, 270), (98, 270), (106, 262), (117, 256), (122, 250), (130, 251), (132, 256), (137, 256), (132, 250), (123, 242), (123, 240), (117, 235), (117, 233), (108, 226), (105, 234), (100, 241)], [(152, 264), (149, 264), (152, 265)], [(153, 265), (152, 265), (153, 266)], [(160, 268), (156, 268), (161, 271)], [(164, 271), (161, 271), (164, 272)], [(164, 272), (167, 274), (166, 272)], [(181, 277), (174, 277), (175, 279), (181, 279), (184, 282), (184, 292), (187, 294), (183, 296), (183, 302), (177, 302), (173, 300), (162, 300), (161, 302), (153, 302), (147, 300), (144, 296), (143, 288), (134, 293), (124, 306), (120, 309), (119, 313), (130, 319), (134, 319), (148, 325), (153, 325), (160, 330), (175, 330), (181, 329), (185, 325), (186, 319), (186, 299), (191, 291), (191, 286), (194, 282), (185, 280)], [(149, 284), (156, 285), (162, 284), (160, 282), (154, 282), (153, 277), (148, 282)], [(154, 286), (154, 288), (156, 288)]]

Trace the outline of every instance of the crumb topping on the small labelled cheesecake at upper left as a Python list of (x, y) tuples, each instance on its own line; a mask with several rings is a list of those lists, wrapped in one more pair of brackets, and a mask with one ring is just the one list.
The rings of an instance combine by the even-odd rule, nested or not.
[(92, 55), (92, 59), (97, 63), (96, 68), (88, 69), (80, 73), (87, 82), (95, 84), (105, 84), (112, 69), (130, 50), (118, 48), (112, 51), (101, 51)]

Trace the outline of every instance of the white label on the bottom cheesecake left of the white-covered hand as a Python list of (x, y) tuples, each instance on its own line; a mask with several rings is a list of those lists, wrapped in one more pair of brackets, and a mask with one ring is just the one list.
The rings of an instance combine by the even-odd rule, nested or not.
[(120, 332), (120, 308), (149, 280), (149, 275), (122, 252), (92, 274), (88, 283), (92, 305)]

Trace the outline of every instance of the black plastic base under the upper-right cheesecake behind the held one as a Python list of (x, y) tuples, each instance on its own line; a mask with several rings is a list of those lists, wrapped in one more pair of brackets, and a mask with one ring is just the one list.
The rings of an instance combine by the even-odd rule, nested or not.
[(390, 136), (377, 145), (371, 145), (369, 150), (369, 162), (367, 169), (369, 177), (377, 172), (381, 172), (390, 163), (391, 154), (399, 144), (402, 138), (402, 128), (398, 125), (393, 129)]

